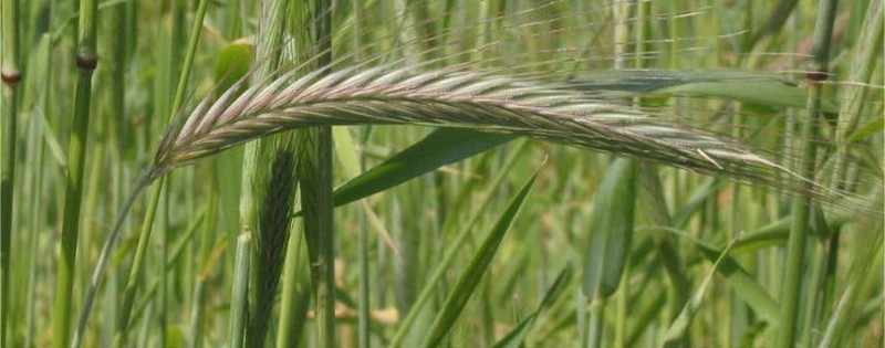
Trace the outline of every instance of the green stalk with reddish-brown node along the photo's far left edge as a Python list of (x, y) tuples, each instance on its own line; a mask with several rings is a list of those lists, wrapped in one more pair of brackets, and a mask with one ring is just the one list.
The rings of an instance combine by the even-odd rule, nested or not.
[(9, 329), (9, 274), (12, 251), (12, 214), (15, 209), (12, 202), (12, 191), (15, 182), (15, 144), (18, 143), (18, 85), (21, 81), (19, 70), (19, 1), (3, 0), (0, 2), (0, 17), (2, 17), (2, 66), (0, 78), (3, 81), (2, 129), (0, 129), (0, 345), (7, 344)]

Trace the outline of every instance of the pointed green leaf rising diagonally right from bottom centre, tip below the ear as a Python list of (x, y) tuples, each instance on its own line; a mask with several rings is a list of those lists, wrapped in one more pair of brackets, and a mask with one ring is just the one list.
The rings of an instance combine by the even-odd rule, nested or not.
[(504, 210), (503, 214), (498, 219), (498, 222), (494, 223), (494, 226), (492, 226), (491, 231), (486, 236), (482, 245), (473, 254), (467, 270), (460, 275), (455, 288), (448, 294), (448, 297), (446, 297), (441, 312), (437, 315), (436, 319), (434, 319), (434, 324), (428, 330), (429, 334), (421, 344), (423, 347), (439, 346), (442, 338), (446, 337), (458, 320), (458, 316), (465, 305), (467, 305), (467, 300), (470, 299), (470, 295), (479, 287), (480, 281), (486, 274), (486, 271), (488, 271), (491, 260), (498, 252), (498, 247), (501, 245), (501, 241), (507, 234), (507, 231), (510, 230), (510, 225), (513, 224), (513, 220), (522, 209), (522, 203), (525, 201), (525, 197), (529, 196), (537, 177), (538, 173), (535, 172), (525, 184), (522, 186), (522, 189), (520, 189), (519, 193), (510, 201), (507, 210)]

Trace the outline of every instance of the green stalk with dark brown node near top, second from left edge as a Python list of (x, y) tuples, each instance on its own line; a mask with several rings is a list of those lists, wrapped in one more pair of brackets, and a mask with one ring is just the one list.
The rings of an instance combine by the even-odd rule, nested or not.
[(77, 236), (80, 235), (80, 204), (83, 192), (83, 167), (92, 99), (92, 74), (98, 64), (95, 53), (95, 0), (80, 1), (76, 67), (79, 71), (74, 97), (73, 126), (67, 147), (67, 180), (62, 218), (62, 244), (55, 283), (55, 310), (53, 314), (53, 346), (64, 347), (71, 336), (71, 294), (74, 285)]

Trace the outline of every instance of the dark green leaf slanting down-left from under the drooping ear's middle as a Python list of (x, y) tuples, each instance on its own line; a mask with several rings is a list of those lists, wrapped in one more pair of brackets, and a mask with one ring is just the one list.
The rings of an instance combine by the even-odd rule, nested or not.
[(335, 189), (335, 207), (393, 188), (514, 138), (510, 135), (485, 134), (469, 129), (434, 130), (409, 148)]

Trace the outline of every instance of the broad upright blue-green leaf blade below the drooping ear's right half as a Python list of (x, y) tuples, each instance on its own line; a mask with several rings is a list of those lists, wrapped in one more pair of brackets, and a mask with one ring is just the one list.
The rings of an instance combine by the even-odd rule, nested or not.
[(635, 177), (635, 161), (617, 158), (597, 190), (584, 263), (583, 291), (590, 299), (611, 296), (621, 283), (633, 236)]

